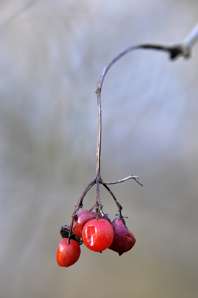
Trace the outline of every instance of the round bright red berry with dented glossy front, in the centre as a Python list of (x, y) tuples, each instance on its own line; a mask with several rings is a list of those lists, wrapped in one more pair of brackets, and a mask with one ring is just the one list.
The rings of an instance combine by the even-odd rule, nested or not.
[(97, 252), (107, 249), (113, 241), (113, 228), (105, 219), (91, 219), (82, 229), (85, 245)]

